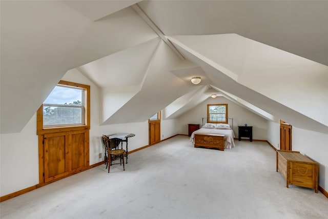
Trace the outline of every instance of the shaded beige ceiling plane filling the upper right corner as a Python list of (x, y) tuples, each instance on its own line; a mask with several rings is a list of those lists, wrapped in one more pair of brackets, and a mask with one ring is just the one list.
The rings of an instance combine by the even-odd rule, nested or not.
[(142, 1), (165, 35), (236, 33), (328, 65), (327, 1)]

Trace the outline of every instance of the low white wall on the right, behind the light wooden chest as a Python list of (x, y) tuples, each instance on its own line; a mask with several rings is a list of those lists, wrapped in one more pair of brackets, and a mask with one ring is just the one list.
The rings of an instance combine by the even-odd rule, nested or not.
[[(280, 125), (270, 122), (268, 129), (268, 141), (277, 149), (280, 140)], [(292, 128), (292, 149), (309, 156), (319, 163), (319, 185), (328, 189), (328, 134)]]

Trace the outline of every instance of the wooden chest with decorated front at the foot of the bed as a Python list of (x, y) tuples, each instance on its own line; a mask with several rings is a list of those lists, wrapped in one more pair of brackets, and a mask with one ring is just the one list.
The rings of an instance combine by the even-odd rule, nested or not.
[(216, 148), (224, 151), (224, 135), (195, 134), (195, 148)]

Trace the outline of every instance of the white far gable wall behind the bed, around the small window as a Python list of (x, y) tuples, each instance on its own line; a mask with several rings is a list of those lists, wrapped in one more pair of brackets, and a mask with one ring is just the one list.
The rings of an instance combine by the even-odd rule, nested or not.
[[(253, 139), (267, 140), (267, 120), (222, 96), (216, 98), (209, 97), (198, 106), (189, 110), (185, 115), (182, 115), (178, 123), (179, 133), (188, 134), (188, 124), (199, 124), (201, 126), (202, 117), (207, 117), (208, 104), (228, 104), (228, 117), (234, 118), (233, 130), (236, 137), (238, 137), (238, 126), (243, 126), (247, 123), (248, 126), (253, 126)], [(206, 120), (204, 120), (204, 123), (206, 123)]]

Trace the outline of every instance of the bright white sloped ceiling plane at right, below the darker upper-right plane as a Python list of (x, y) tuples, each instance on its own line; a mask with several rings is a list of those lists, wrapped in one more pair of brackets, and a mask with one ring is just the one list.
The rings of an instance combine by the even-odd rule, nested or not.
[[(222, 62), (220, 62), (220, 58), (216, 59), (217, 56), (220, 56), (219, 52), (215, 53), (215, 57), (211, 56), (211, 51), (213, 45), (215, 45), (215, 42), (211, 42), (209, 38), (212, 37), (212, 39), (215, 39), (215, 41), (217, 41), (222, 37), (222, 35), (220, 35), (219, 37), (206, 36), (206, 39), (204, 39), (203, 37), (204, 36), (201, 36), (201, 42), (203, 42), (201, 47), (199, 47), (199, 44), (197, 44), (197, 40), (199, 39), (198, 36), (176, 36), (170, 37), (169, 39), (174, 42), (174, 45), (181, 51), (181, 53), (185, 57), (188, 57), (188, 59), (201, 66), (202, 69), (207, 72), (214, 86), (224, 91), (230, 92), (233, 95), (242, 98), (244, 101), (247, 101), (248, 103), (257, 106), (260, 109), (269, 112), (272, 115), (282, 118), (285, 121), (289, 121), (291, 124), (297, 127), (304, 127), (306, 129), (311, 129), (318, 132), (328, 132), (328, 125), (325, 124), (327, 123), (327, 115), (325, 114), (325, 112), (327, 112), (326, 107), (328, 106), (328, 103), (324, 101), (324, 99), (326, 98), (324, 96), (328, 94), (328, 87), (325, 85), (325, 83), (321, 83), (320, 81), (328, 81), (327, 66), (309, 61), (308, 59), (305, 59), (303, 62), (298, 63), (299, 59), (303, 58), (299, 56), (294, 57), (295, 55), (291, 53), (284, 54), (286, 52), (281, 50), (275, 52), (270, 51), (270, 49), (267, 48), (270, 54), (276, 54), (276, 52), (283, 53), (279, 55), (279, 57), (283, 58), (283, 61), (276, 62), (276, 59), (274, 59), (273, 57), (269, 56), (268, 59), (263, 57), (265, 56), (265, 54), (267, 54), (265, 52), (267, 50), (257, 53), (256, 50), (258, 48), (256, 47), (256, 45), (252, 45), (250, 47), (250, 53), (252, 53), (253, 55), (254, 53), (259, 54), (261, 58), (252, 58), (251, 54), (249, 53), (244, 57), (241, 55), (240, 57), (242, 58), (236, 58), (235, 63), (232, 67), (236, 68), (236, 70), (234, 70), (233, 72), (237, 73), (237, 77), (233, 78), (230, 77), (230, 62), (228, 62), (227, 64), (226, 62), (224, 62), (224, 58)], [(235, 34), (228, 34), (225, 37), (229, 37), (229, 39), (234, 39), (235, 37), (237, 37), (239, 39), (240, 36), (237, 36)], [(190, 40), (190, 38), (195, 39), (196, 42), (188, 41), (188, 39)], [(179, 39), (180, 41), (178, 41), (177, 39)], [(189, 45), (194, 46), (194, 49), (197, 48), (201, 49), (202, 51), (194, 51), (190, 47), (187, 47), (186, 44), (182, 44), (181, 41), (183, 41), (183, 39), (186, 39), (185, 42), (188, 42)], [(247, 39), (247, 41), (249, 41), (249, 39)], [(234, 41), (232, 41), (232, 43), (233, 42)], [(227, 45), (226, 43), (227, 42), (223, 42), (224, 45)], [(252, 43), (258, 44), (257, 42)], [(207, 48), (207, 45), (209, 45), (210, 48)], [(247, 43), (243, 43), (242, 45), (247, 45)], [(232, 48), (229, 49), (228, 53), (224, 52), (224, 49), (222, 47), (219, 48), (221, 48), (220, 51), (223, 51), (223, 53), (227, 56), (233, 54)], [(210, 52), (207, 52), (207, 49)], [(273, 49), (277, 50), (275, 48)], [(241, 47), (241, 50), (244, 50), (244, 48)], [(242, 52), (240, 53), (242, 54)], [(289, 58), (289, 56), (292, 57)], [(250, 62), (250, 60), (248, 59), (249, 57), (251, 57), (250, 59), (252, 59), (252, 61), (259, 61), (259, 64)], [(228, 61), (230, 61), (229, 58), (227, 59)], [(263, 66), (261, 61), (267, 63), (267, 65)], [(273, 65), (269, 65), (269, 62), (272, 62)], [(308, 62), (311, 63), (309, 64)], [(285, 63), (290, 64), (288, 65), (287, 69), (284, 66)], [(296, 65), (296, 63), (298, 64)], [(242, 65), (241, 69), (238, 68), (240, 64)], [(297, 71), (295, 71), (294, 68), (296, 68)], [(224, 71), (228, 71), (228, 74), (224, 74)], [(267, 74), (268, 72), (269, 74)], [(281, 76), (275, 80), (274, 76), (281, 75), (280, 72), (284, 73), (283, 80), (281, 81)], [(290, 76), (290, 74), (294, 75), (294, 77)], [(245, 81), (243, 81), (244, 77), (239, 79), (240, 75), (246, 75), (244, 77), (252, 78), (251, 83), (248, 80), (247, 83), (245, 83)], [(317, 81), (316, 84), (309, 83), (309, 78), (311, 78), (311, 76), (317, 78), (315, 80)], [(297, 78), (297, 80), (295, 80), (295, 78)], [(254, 81), (254, 79), (256, 79), (256, 81)], [(280, 86), (277, 87), (277, 84)], [(294, 89), (290, 88), (295, 88), (297, 87), (297, 85), (301, 87), (309, 87), (309, 89), (306, 90), (306, 93), (292, 92)], [(303, 103), (301, 101), (301, 98), (304, 97), (308, 97), (306, 98), (306, 103)], [(295, 98), (299, 101), (294, 101)], [(288, 99), (290, 99), (290, 101), (285, 101)], [(281, 103), (279, 101), (281, 101)], [(308, 104), (313, 106), (314, 109), (309, 110)], [(318, 116), (318, 114), (320, 116)]]

